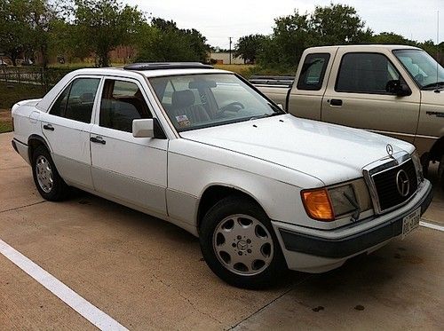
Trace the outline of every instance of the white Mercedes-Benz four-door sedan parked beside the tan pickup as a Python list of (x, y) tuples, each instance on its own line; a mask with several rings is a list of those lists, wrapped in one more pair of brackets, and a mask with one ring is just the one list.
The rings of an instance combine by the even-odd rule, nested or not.
[(198, 63), (76, 70), (12, 117), (44, 199), (75, 186), (163, 218), (242, 288), (404, 238), (432, 200), (411, 144), (285, 114)]

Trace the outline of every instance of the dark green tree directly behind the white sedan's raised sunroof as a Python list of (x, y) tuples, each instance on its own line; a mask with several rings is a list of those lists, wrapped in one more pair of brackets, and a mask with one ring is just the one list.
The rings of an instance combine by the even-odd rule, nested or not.
[(178, 28), (172, 20), (153, 19), (138, 40), (138, 61), (208, 61), (207, 39), (194, 28)]

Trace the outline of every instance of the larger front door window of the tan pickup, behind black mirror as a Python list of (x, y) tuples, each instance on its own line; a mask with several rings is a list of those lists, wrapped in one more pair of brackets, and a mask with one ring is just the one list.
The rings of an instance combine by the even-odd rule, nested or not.
[(389, 59), (379, 53), (347, 53), (341, 60), (335, 90), (338, 92), (389, 94), (389, 81), (400, 74)]

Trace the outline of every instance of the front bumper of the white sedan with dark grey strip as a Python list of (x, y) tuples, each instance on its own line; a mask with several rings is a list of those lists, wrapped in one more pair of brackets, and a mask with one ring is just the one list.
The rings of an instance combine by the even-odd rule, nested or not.
[(431, 201), (432, 185), (424, 180), (408, 204), (371, 220), (330, 231), (281, 222), (273, 222), (273, 225), (289, 269), (327, 272), (344, 264), (350, 257), (370, 253), (400, 236), (404, 217), (416, 209), (421, 209), (423, 215)]

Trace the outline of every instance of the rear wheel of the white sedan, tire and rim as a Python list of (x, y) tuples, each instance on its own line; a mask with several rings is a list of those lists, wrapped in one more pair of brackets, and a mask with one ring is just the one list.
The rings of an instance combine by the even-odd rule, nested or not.
[(38, 146), (32, 155), (32, 174), (38, 193), (48, 201), (61, 201), (67, 197), (69, 187), (60, 177), (51, 154)]

